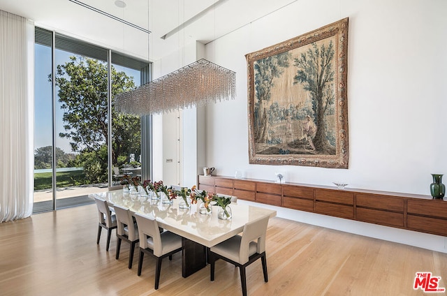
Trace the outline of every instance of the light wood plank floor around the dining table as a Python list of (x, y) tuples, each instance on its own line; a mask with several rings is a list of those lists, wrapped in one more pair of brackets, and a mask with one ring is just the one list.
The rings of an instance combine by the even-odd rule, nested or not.
[[(214, 282), (209, 266), (183, 279), (180, 253), (163, 260), (154, 290), (154, 258), (137, 276), (138, 251), (128, 269), (129, 244), (115, 260), (115, 235), (106, 252), (96, 230), (95, 205), (1, 223), (0, 295), (242, 295), (239, 270), (222, 260)], [(269, 222), (267, 262), (268, 283), (261, 260), (248, 267), (249, 295), (427, 295), (413, 290), (416, 272), (447, 288), (445, 253), (279, 218)]]

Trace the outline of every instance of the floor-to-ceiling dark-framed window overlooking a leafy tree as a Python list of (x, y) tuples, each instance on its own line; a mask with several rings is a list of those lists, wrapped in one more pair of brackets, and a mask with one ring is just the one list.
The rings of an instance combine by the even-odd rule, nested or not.
[(121, 172), (141, 174), (140, 117), (113, 104), (109, 117), (108, 105), (140, 85), (147, 62), (53, 34), (36, 28), (34, 212), (91, 202), (87, 195), (119, 183)]

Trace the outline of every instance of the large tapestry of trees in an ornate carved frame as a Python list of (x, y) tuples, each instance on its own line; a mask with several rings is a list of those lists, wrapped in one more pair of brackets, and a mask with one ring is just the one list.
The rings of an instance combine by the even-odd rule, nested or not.
[(249, 163), (348, 168), (348, 18), (245, 57)]

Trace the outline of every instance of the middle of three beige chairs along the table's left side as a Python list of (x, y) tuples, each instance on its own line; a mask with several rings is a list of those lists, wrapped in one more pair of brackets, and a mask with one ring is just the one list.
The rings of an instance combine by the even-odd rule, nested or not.
[(119, 259), (119, 249), (121, 249), (121, 242), (128, 242), (131, 247), (129, 250), (129, 269), (132, 268), (133, 253), (135, 252), (135, 244), (138, 243), (138, 226), (133, 222), (131, 211), (119, 205), (113, 206), (115, 215), (117, 216), (117, 253), (115, 258)]

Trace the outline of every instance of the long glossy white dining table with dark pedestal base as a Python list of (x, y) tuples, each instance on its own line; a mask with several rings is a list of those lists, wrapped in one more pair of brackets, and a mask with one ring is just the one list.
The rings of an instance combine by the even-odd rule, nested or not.
[(212, 206), (212, 214), (200, 214), (199, 204), (183, 209), (179, 206), (182, 198), (166, 203), (166, 198), (156, 195), (131, 194), (122, 189), (89, 194), (90, 198), (101, 198), (108, 205), (120, 205), (155, 219), (159, 227), (182, 237), (182, 276), (186, 277), (207, 265), (207, 250), (244, 230), (244, 225), (265, 216), (276, 216), (272, 209), (242, 205), (231, 202), (231, 219), (218, 218), (218, 205)]

